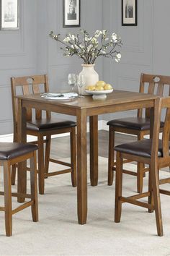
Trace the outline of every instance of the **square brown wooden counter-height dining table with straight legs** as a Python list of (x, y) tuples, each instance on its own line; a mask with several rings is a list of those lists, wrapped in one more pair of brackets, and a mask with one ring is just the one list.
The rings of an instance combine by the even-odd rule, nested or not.
[[(139, 108), (151, 109), (151, 136), (154, 121), (154, 105), (158, 96), (148, 93), (137, 93), (125, 90), (113, 90), (107, 98), (93, 99), (91, 95), (84, 98), (73, 98), (68, 101), (58, 101), (42, 98), (40, 94), (18, 95), (18, 142), (26, 142), (27, 108), (51, 111), (58, 114), (76, 116), (77, 136), (77, 212), (80, 224), (87, 219), (87, 140), (86, 124), (89, 116), (90, 137), (90, 180), (91, 186), (98, 182), (98, 116), (118, 111), (128, 111)], [(19, 165), (18, 191), (24, 193), (26, 189), (26, 172), (24, 165)], [(107, 179), (107, 177), (106, 177)], [(24, 198), (18, 198), (23, 202)]]

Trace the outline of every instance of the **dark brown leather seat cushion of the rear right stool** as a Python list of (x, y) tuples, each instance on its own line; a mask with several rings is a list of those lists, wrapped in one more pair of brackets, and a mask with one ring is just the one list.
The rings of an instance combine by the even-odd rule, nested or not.
[[(121, 127), (127, 129), (138, 129), (146, 130), (150, 129), (150, 119), (145, 119), (142, 117), (130, 117), (124, 119), (113, 119), (107, 122), (108, 125), (112, 127)], [(164, 122), (161, 121), (160, 127), (164, 127)]]

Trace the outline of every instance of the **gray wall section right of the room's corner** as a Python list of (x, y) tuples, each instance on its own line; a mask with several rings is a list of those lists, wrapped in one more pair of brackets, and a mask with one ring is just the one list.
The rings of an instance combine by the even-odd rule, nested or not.
[[(170, 75), (170, 1), (138, 0), (138, 26), (121, 26), (121, 1), (103, 1), (103, 27), (122, 38), (119, 64), (104, 59), (104, 80), (115, 89), (139, 90), (140, 73)], [(103, 119), (132, 116), (135, 111), (104, 115)]]

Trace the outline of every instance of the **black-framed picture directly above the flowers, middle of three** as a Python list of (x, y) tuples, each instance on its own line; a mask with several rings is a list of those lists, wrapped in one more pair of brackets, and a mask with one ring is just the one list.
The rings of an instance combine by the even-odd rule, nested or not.
[(63, 0), (63, 27), (80, 27), (80, 1)]

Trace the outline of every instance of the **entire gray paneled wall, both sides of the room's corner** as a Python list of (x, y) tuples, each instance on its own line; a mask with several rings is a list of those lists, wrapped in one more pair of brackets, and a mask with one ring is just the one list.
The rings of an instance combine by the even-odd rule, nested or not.
[[(12, 132), (10, 77), (48, 73), (50, 90), (57, 91), (67, 88), (68, 72), (81, 70), (81, 60), (64, 58), (59, 44), (48, 37), (50, 30), (61, 35), (79, 30), (63, 28), (63, 0), (20, 2), (20, 29), (0, 31), (0, 135)], [(170, 73), (169, 9), (169, 0), (140, 0), (138, 26), (122, 27), (120, 0), (81, 0), (81, 27), (91, 33), (102, 28), (117, 32), (123, 41), (119, 64), (97, 61), (101, 80), (120, 90), (138, 91), (140, 72)]]

